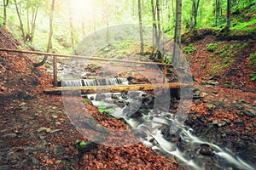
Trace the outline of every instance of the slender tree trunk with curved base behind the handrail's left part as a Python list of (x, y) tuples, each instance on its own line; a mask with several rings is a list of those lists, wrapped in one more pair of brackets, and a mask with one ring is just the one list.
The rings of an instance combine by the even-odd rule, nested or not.
[[(53, 14), (55, 11), (55, 0), (52, 0), (51, 2), (51, 10), (50, 10), (50, 15), (49, 15), (49, 39), (48, 39), (48, 46), (47, 46), (47, 53), (49, 53), (52, 50), (52, 35), (53, 35)], [(35, 67), (44, 65), (44, 63), (46, 62), (46, 60), (48, 59), (47, 55), (44, 55), (44, 59), (39, 62), (39, 63), (34, 63)]]

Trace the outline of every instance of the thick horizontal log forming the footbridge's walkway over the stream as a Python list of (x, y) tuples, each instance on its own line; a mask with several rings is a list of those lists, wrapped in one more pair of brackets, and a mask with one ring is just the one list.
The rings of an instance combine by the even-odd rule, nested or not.
[(131, 85), (106, 85), (106, 86), (83, 86), (83, 87), (57, 87), (44, 89), (45, 94), (61, 95), (65, 94), (100, 94), (100, 93), (115, 93), (127, 91), (150, 91), (154, 89), (166, 88), (192, 88), (192, 85), (179, 82), (172, 83), (156, 83), (156, 84), (131, 84)]

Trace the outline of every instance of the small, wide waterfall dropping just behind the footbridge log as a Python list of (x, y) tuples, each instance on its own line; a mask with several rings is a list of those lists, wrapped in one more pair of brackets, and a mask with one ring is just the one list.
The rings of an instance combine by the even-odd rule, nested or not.
[(128, 85), (126, 78), (99, 78), (99, 79), (79, 79), (63, 80), (62, 87), (81, 87), (81, 86), (102, 86), (102, 85)]

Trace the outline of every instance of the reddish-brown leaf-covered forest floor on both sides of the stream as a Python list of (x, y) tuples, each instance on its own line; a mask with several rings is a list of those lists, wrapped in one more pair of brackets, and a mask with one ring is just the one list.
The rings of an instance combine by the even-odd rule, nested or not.
[[(1, 48), (21, 46), (2, 27), (0, 37)], [(218, 42), (210, 35), (193, 43), (193, 48), (198, 50), (187, 56), (198, 93), (194, 94), (185, 122), (201, 138), (232, 148), (252, 163), (256, 161), (256, 94), (248, 56), (255, 51), (255, 41), (237, 50), (236, 56), (228, 59), (235, 59), (234, 62), (219, 70), (212, 65), (221, 52), (229, 51), (224, 48), (225, 44), (233, 45), (229, 49), (234, 51), (242, 41)], [(210, 43), (218, 43), (218, 50), (207, 51)], [(0, 169), (183, 168), (178, 167), (175, 159), (158, 156), (137, 142), (117, 148), (100, 144), (94, 150), (79, 154), (74, 145), (90, 139), (73, 127), (61, 96), (43, 93), (52, 82), (44, 66), (34, 68), (32, 63), (36, 60), (32, 55), (0, 54)], [(142, 80), (137, 75), (134, 78)], [(105, 127), (125, 129), (124, 122), (100, 114), (90, 104), (84, 105)]]

